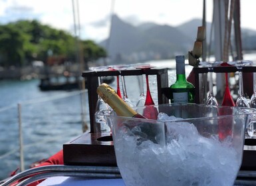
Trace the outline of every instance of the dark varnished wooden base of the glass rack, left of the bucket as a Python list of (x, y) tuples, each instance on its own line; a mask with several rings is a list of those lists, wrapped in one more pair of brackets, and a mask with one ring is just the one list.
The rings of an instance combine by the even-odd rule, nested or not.
[(110, 133), (84, 133), (65, 143), (63, 158), (64, 165), (117, 166)]

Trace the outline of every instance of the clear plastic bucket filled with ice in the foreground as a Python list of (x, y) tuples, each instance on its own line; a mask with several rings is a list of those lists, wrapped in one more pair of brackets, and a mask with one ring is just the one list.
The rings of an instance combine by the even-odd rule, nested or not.
[(126, 185), (234, 184), (254, 109), (162, 104), (134, 110), (157, 112), (158, 120), (105, 115)]

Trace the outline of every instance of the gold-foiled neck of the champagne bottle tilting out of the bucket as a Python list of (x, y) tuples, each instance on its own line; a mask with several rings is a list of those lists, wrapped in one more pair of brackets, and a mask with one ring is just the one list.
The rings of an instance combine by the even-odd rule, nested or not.
[(122, 100), (122, 98), (116, 94), (116, 91), (108, 84), (103, 83), (98, 86), (97, 93), (100, 98), (102, 98), (102, 100), (104, 100), (104, 102), (106, 102), (114, 110), (114, 112), (116, 112), (118, 116), (145, 118), (130, 108), (130, 106), (128, 106), (126, 102), (124, 102), (124, 100)]

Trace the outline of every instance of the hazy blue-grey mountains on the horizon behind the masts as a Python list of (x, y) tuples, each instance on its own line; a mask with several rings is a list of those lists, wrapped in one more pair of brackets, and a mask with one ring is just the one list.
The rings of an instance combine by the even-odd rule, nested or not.
[[(111, 62), (116, 64), (172, 58), (192, 50), (197, 27), (201, 25), (200, 19), (193, 19), (178, 27), (156, 23), (143, 23), (134, 27), (113, 15), (110, 38), (100, 45), (108, 50)], [(207, 42), (210, 29), (211, 23), (206, 23)], [(256, 49), (256, 32), (248, 29), (242, 29), (241, 32), (243, 48)]]

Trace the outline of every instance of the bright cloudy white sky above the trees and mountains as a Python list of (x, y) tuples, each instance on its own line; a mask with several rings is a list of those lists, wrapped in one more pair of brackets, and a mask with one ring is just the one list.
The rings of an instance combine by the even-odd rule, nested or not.
[[(241, 0), (241, 27), (256, 31), (255, 7), (255, 0)], [(211, 22), (213, 0), (206, 0), (206, 12), (206, 20)], [(97, 42), (109, 35), (111, 13), (133, 25), (154, 22), (175, 27), (191, 19), (201, 19), (203, 0), (0, 0), (1, 25), (37, 19), (74, 34), (75, 17), (75, 22), (80, 23), (76, 34)]]

